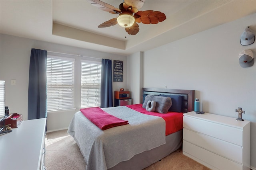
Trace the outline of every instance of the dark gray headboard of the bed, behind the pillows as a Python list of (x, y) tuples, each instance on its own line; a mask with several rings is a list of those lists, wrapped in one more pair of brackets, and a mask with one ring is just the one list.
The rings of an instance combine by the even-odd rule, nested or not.
[(167, 88), (142, 88), (142, 100), (143, 95), (180, 95), (182, 96), (182, 109), (183, 113), (194, 111), (194, 99), (195, 99), (195, 90), (177, 90), (177, 89), (167, 89)]

